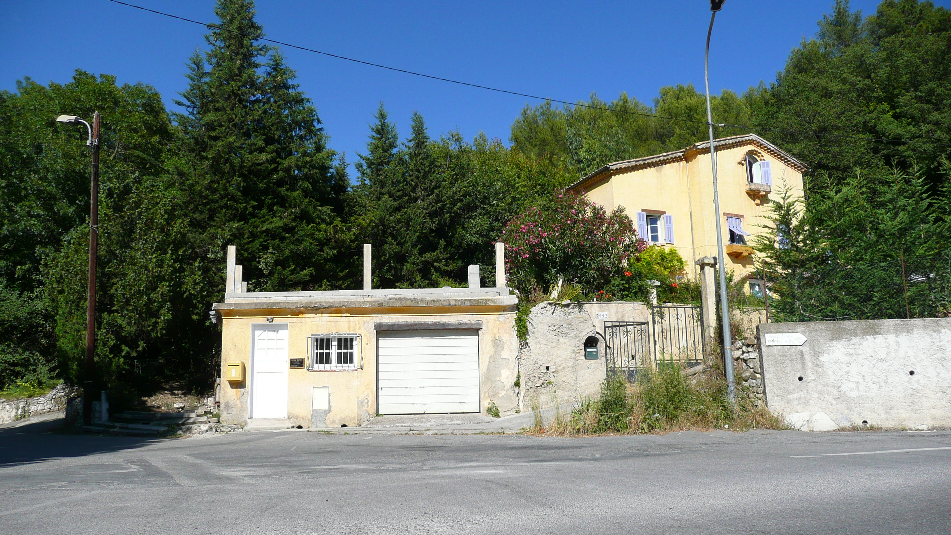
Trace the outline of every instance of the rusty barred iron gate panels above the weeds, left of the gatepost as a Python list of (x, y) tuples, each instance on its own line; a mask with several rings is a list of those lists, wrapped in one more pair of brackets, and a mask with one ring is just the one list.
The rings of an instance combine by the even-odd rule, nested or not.
[(605, 366), (629, 381), (637, 370), (659, 362), (691, 367), (704, 357), (704, 325), (700, 307), (650, 307), (650, 322), (604, 322)]

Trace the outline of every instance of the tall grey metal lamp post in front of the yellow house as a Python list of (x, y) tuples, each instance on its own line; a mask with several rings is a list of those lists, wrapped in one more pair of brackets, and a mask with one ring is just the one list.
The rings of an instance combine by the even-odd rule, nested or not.
[(716, 151), (713, 148), (713, 111), (710, 109), (710, 35), (713, 33), (713, 20), (716, 12), (723, 8), (726, 0), (710, 0), (710, 27), (707, 30), (707, 51), (704, 54), (704, 83), (707, 86), (707, 126), (710, 135), (710, 168), (713, 171), (713, 210), (716, 214), (716, 247), (718, 264), (720, 265), (720, 323), (723, 324), (723, 360), (724, 371), (727, 373), (727, 397), (730, 405), (736, 403), (736, 378), (733, 377), (733, 349), (729, 335), (729, 300), (727, 297), (727, 270), (726, 255), (723, 247), (723, 225), (720, 220), (720, 193), (716, 183)]

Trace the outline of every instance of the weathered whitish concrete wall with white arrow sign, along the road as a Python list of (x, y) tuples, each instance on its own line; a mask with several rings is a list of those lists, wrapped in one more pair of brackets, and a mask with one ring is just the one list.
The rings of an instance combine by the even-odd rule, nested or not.
[[(794, 332), (805, 344), (767, 345)], [(951, 426), (951, 318), (763, 324), (759, 342), (767, 406), (792, 426)]]

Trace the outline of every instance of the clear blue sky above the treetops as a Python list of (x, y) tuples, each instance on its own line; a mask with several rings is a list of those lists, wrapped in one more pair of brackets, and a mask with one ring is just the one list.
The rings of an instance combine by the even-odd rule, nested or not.
[[(938, 5), (951, 2), (939, 1)], [(214, 22), (213, 0), (130, 0)], [(710, 89), (767, 83), (793, 47), (817, 30), (831, 0), (728, 0), (717, 15)], [(864, 14), (877, 2), (853, 0)], [(621, 91), (650, 103), (662, 86), (703, 87), (708, 2), (320, 2), (259, 0), (268, 37), (362, 60), (480, 85), (574, 101)], [(185, 88), (185, 61), (204, 48), (204, 28), (107, 0), (4, 2), (0, 6), (0, 89), (29, 76), (68, 82), (74, 69), (145, 82), (167, 106)], [(419, 111), (438, 134), (480, 130), (508, 143), (530, 101), (283, 50), (313, 100), (330, 146), (351, 163), (383, 102), (400, 135)]]

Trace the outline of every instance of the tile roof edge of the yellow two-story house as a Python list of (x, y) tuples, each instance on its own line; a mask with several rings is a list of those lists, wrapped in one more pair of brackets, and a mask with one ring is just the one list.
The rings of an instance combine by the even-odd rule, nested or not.
[[(734, 135), (730, 137), (723, 137), (720, 139), (714, 140), (717, 150), (723, 149), (732, 149), (733, 147), (740, 147), (744, 145), (752, 145), (757, 149), (761, 149), (764, 152), (767, 152), (773, 158), (783, 162), (790, 168), (794, 168), (799, 172), (805, 172), (808, 170), (808, 167), (803, 163), (793, 158), (788, 152), (783, 149), (776, 147), (775, 145), (769, 143), (767, 140), (756, 134), (744, 134), (744, 135)], [(697, 152), (705, 154), (709, 152), (710, 142), (702, 141), (700, 143), (694, 143), (686, 149), (673, 150), (671, 152), (664, 152), (663, 154), (655, 154), (653, 156), (646, 156), (644, 158), (634, 158), (633, 160), (625, 160), (623, 162), (614, 162), (596, 169), (594, 172), (588, 176), (582, 178), (581, 180), (575, 182), (573, 185), (569, 186), (567, 189), (577, 189), (583, 186), (590, 185), (595, 180), (601, 178), (607, 178), (616, 171), (632, 171), (643, 168), (656, 168), (658, 166), (665, 166), (674, 162), (680, 162), (685, 159), (687, 154), (691, 152)]]

